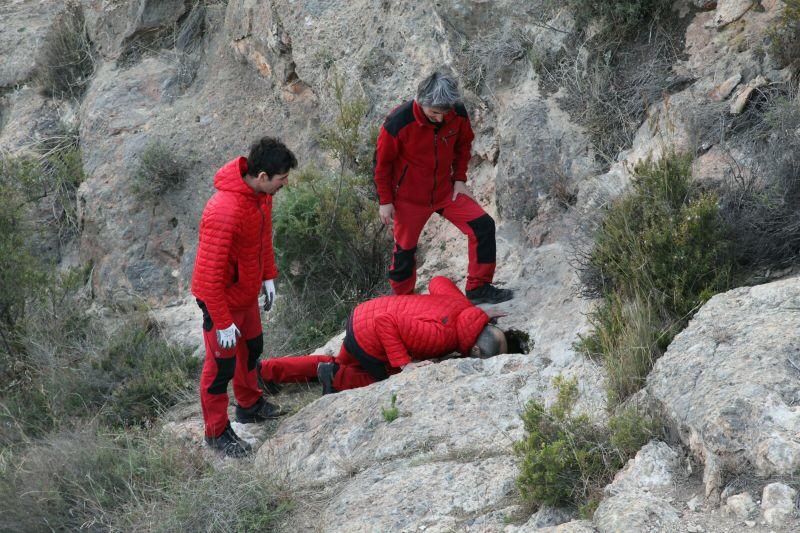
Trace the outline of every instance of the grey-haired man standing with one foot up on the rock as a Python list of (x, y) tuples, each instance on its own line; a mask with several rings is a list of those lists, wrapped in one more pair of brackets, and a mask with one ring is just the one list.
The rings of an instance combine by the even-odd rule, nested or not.
[(467, 298), (475, 304), (513, 298), (511, 290), (492, 285), (494, 219), (466, 186), (473, 138), (458, 83), (441, 71), (422, 80), (417, 97), (386, 117), (378, 135), (375, 184), (381, 222), (393, 226), (389, 283), (395, 294), (414, 292), (417, 241), (437, 213), (469, 240)]

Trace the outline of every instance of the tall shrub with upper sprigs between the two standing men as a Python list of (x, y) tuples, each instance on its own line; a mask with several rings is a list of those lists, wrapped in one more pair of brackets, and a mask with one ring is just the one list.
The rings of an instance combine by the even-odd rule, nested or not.
[(289, 305), (282, 306), (275, 324), (285, 334), (266, 339), (274, 353), (324, 342), (344, 327), (357, 303), (386, 286), (391, 245), (377, 217), (368, 170), (375, 136), (362, 129), (367, 105), (346, 99), (336, 76), (333, 92), (337, 116), (320, 142), (339, 169), (298, 172), (273, 215), (278, 268), (290, 285), (282, 289)]

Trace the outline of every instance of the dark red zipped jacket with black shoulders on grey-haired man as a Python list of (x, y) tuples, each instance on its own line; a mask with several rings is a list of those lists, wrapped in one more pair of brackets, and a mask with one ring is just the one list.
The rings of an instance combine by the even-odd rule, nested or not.
[(395, 108), (381, 126), (375, 152), (375, 185), (381, 205), (402, 200), (436, 205), (467, 181), (472, 126), (458, 104), (433, 124), (416, 101)]

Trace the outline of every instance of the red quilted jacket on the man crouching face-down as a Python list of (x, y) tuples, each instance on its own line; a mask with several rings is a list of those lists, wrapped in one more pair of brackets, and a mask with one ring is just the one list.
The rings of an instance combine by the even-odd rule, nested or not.
[(356, 306), (352, 332), (358, 346), (395, 368), (413, 359), (459, 351), (468, 355), (489, 316), (444, 276), (433, 278), (430, 294), (383, 296)]

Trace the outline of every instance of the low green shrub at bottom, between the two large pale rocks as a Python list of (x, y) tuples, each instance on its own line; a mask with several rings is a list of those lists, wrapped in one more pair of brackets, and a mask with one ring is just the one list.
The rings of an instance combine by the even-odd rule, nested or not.
[(521, 459), (517, 486), (537, 506), (592, 509), (607, 485), (638, 450), (655, 435), (655, 423), (629, 409), (613, 416), (608, 427), (572, 414), (578, 399), (576, 380), (554, 380), (556, 401), (546, 408), (528, 402), (522, 419), (525, 438), (515, 443)]

